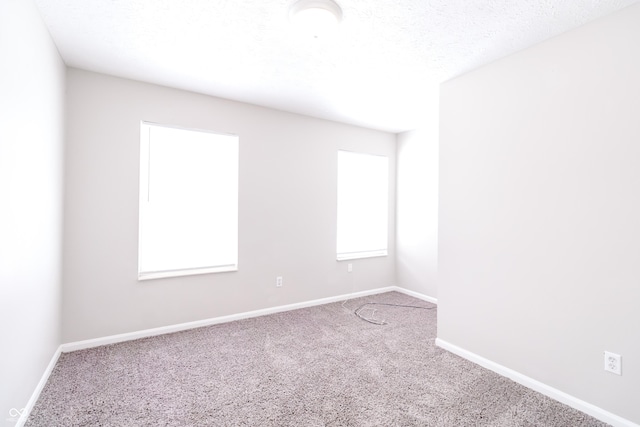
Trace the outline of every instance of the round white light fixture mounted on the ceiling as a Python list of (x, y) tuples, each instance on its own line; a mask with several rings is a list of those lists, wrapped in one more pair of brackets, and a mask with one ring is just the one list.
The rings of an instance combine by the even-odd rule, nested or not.
[(318, 38), (342, 21), (342, 9), (333, 0), (298, 0), (289, 8), (289, 19), (301, 30)]

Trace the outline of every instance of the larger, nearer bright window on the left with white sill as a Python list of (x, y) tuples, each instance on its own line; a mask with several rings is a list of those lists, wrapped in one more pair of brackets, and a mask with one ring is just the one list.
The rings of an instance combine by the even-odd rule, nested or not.
[(139, 280), (238, 269), (238, 146), (141, 123)]

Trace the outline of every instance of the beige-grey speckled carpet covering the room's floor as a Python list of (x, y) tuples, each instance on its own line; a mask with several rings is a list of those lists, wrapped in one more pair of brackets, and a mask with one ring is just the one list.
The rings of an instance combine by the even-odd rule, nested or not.
[(435, 346), (389, 292), (62, 354), (26, 426), (605, 426)]

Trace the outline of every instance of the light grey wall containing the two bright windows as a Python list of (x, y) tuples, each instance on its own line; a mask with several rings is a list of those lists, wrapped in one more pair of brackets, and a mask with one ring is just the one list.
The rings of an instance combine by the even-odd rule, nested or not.
[[(64, 342), (395, 284), (392, 226), (388, 257), (335, 260), (337, 150), (388, 155), (394, 200), (395, 135), (75, 69), (67, 87)], [(140, 120), (240, 136), (238, 272), (136, 280)]]

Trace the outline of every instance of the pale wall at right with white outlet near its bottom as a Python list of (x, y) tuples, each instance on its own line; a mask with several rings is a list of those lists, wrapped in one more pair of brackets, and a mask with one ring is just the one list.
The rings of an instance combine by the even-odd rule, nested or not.
[(440, 339), (636, 423), (639, 40), (640, 4), (442, 85), (438, 289)]

